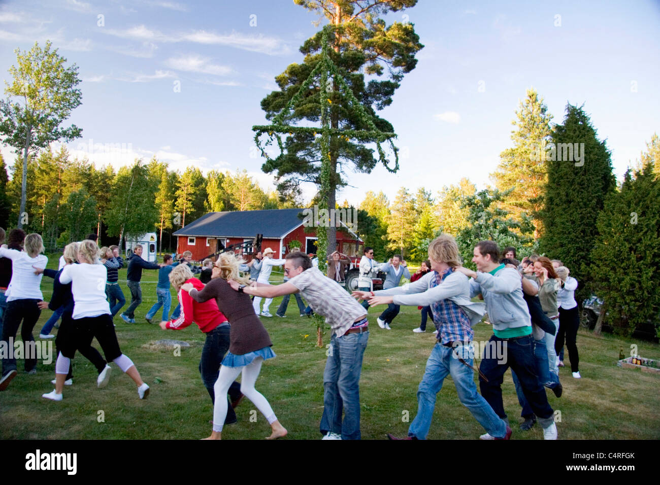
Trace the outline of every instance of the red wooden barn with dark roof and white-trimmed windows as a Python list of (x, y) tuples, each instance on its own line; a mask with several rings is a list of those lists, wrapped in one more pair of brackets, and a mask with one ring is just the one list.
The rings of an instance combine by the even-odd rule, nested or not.
[[(218, 250), (218, 242), (224, 247), (231, 244), (251, 241), (257, 234), (263, 234), (261, 249), (270, 247), (273, 257), (281, 258), (288, 252), (287, 245), (293, 240), (302, 243), (300, 248), (306, 253), (316, 253), (316, 231), (314, 227), (304, 227), (304, 209), (238, 210), (233, 212), (209, 212), (205, 216), (187, 224), (174, 232), (177, 236), (177, 253), (191, 251), (193, 259), (201, 261)], [(309, 232), (306, 232), (306, 229)], [(337, 249), (342, 253), (362, 257), (364, 242), (346, 224), (337, 228)], [(244, 248), (246, 259), (251, 259), (253, 249)]]

